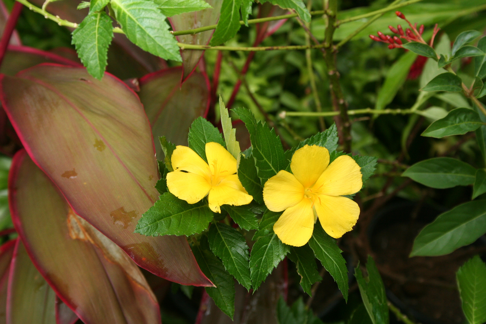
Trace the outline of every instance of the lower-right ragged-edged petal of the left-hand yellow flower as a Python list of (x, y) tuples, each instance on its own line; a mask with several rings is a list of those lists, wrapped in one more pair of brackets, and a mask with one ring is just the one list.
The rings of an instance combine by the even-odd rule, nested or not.
[(215, 213), (221, 213), (221, 205), (241, 206), (252, 200), (236, 174), (227, 176), (218, 186), (212, 186), (208, 195), (209, 208)]

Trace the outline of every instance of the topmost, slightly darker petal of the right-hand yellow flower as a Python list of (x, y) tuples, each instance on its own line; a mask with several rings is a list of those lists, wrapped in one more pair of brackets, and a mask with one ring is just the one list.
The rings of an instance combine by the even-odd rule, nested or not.
[(329, 164), (329, 151), (317, 145), (305, 145), (295, 151), (290, 169), (304, 188), (311, 187)]

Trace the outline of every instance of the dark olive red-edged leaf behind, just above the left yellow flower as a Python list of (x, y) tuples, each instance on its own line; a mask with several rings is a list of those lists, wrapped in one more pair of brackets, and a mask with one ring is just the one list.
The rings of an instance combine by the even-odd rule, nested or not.
[[(140, 101), (152, 126), (152, 133), (176, 145), (188, 145), (189, 127), (194, 119), (209, 109), (209, 80), (206, 74), (192, 73), (180, 84), (181, 67), (168, 68), (140, 79)], [(158, 140), (157, 140), (158, 142)], [(156, 144), (157, 158), (163, 159)]]

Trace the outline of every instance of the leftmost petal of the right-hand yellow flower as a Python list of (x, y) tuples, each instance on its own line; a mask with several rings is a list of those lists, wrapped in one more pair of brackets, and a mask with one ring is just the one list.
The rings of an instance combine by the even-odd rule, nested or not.
[(281, 170), (265, 182), (263, 200), (271, 211), (282, 211), (300, 203), (304, 187), (290, 172)]

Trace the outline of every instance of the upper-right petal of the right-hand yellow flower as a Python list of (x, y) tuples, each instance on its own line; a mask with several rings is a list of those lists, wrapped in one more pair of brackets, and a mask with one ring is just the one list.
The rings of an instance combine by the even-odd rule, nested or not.
[(350, 195), (363, 187), (361, 168), (351, 156), (341, 155), (324, 170), (314, 192), (330, 196)]

